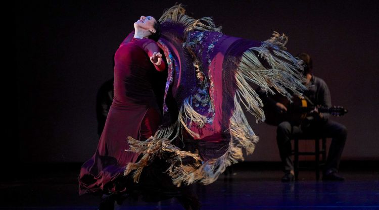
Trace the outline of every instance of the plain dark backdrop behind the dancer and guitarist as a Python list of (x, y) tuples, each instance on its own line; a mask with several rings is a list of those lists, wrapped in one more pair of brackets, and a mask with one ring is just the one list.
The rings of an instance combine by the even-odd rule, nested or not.
[[(377, 1), (182, 1), (195, 18), (212, 16), (223, 33), (266, 40), (286, 33), (288, 51), (313, 57), (332, 103), (349, 110), (343, 160), (379, 160)], [(96, 94), (113, 76), (113, 55), (141, 15), (157, 19), (170, 1), (16, 3), (16, 129), (8, 160), (84, 162), (98, 144)], [(13, 78), (8, 86), (15, 89)], [(16, 98), (15, 98), (16, 97)], [(279, 161), (275, 127), (256, 124), (248, 161)], [(13, 122), (13, 121), (12, 121)]]

